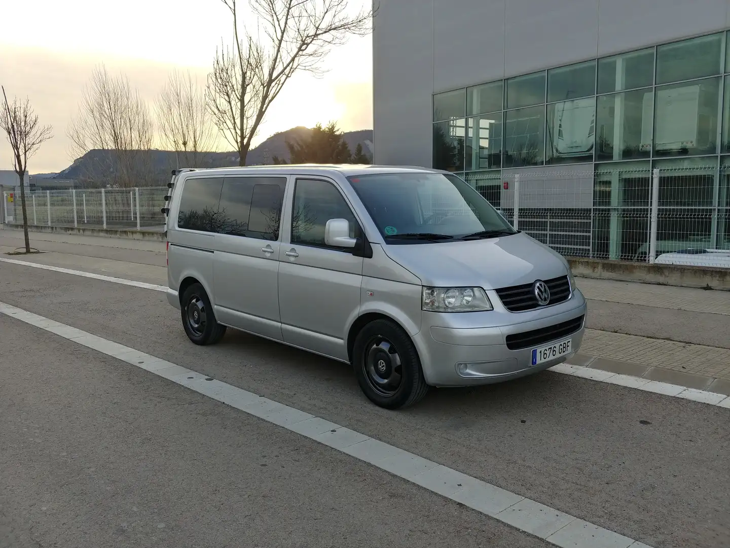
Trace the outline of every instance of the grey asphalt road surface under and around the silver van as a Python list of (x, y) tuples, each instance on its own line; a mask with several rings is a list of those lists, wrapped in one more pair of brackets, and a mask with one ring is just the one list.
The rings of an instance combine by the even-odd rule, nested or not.
[[(194, 346), (160, 292), (0, 264), (0, 301), (650, 546), (730, 545), (727, 409), (546, 372), (394, 413), (345, 365), (237, 332)], [(15, 319), (0, 333), (0, 525), (27, 539), (10, 546), (545, 545)]]

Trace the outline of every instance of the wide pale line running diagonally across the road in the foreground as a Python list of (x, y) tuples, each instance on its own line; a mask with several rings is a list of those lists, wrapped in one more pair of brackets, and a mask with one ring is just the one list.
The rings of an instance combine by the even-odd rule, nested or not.
[(496, 485), (447, 468), (398, 447), (383, 443), (349, 428), (299, 409), (285, 406), (253, 392), (201, 375), (159, 357), (145, 354), (112, 340), (0, 302), (0, 313), (31, 324), (74, 343), (115, 357), (211, 397), (228, 406), (257, 416), (274, 425), (304, 435), (358, 460), (393, 473), (431, 492), (531, 533), (561, 548), (650, 548), (570, 514), (532, 501)]

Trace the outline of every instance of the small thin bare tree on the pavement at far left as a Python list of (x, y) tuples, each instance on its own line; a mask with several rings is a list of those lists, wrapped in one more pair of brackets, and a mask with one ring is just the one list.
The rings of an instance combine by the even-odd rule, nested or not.
[(5, 88), (2, 88), (3, 109), (0, 112), (0, 129), (5, 132), (10, 148), (12, 148), (12, 169), (20, 178), (20, 207), (23, 210), (23, 236), (26, 240), (26, 253), (31, 252), (31, 241), (28, 237), (28, 213), (26, 211), (25, 175), (28, 159), (37, 153), (43, 142), (53, 138), (52, 126), (39, 126), (38, 115), (26, 98), (24, 102), (13, 99), (7, 101)]

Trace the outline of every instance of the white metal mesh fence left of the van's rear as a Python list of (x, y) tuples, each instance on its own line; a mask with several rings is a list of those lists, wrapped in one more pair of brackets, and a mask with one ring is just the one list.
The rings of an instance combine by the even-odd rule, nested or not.
[[(74, 189), (26, 191), (28, 224), (44, 227), (89, 227), (162, 230), (166, 187), (145, 189)], [(23, 224), (20, 189), (4, 193), (9, 224)], [(138, 220), (139, 218), (139, 220)]]

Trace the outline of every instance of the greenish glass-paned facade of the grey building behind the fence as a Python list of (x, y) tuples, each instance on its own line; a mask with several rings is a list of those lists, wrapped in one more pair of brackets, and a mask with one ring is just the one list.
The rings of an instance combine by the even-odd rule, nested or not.
[(730, 31), (435, 94), (433, 115), (433, 167), (503, 210), (511, 174), (588, 174), (588, 207), (520, 213), (546, 243), (570, 222), (566, 254), (642, 259), (654, 170), (658, 252), (730, 248)]

